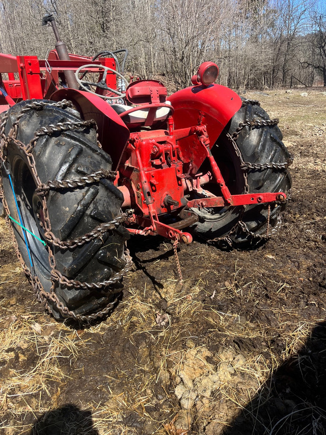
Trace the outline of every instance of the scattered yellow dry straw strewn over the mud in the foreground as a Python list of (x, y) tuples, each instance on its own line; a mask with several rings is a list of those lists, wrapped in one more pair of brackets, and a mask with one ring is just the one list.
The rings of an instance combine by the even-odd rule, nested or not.
[[(259, 283), (253, 282), (247, 285), (247, 289), (244, 289), (241, 284), (236, 282), (237, 274), (238, 271), (234, 273), (233, 277), (230, 277), (229, 286), (222, 288), (224, 298), (243, 297), (244, 290), (250, 295), (251, 291), (248, 290), (248, 287), (259, 285)], [(16, 284), (19, 283), (22, 279), (21, 274), (18, 273), (17, 277), (13, 278), (13, 280), (15, 279)], [(109, 391), (105, 403), (93, 401), (84, 404), (82, 409), (92, 411), (92, 427), (96, 428), (101, 435), (137, 434), (136, 429), (123, 424), (126, 411), (133, 411), (141, 419), (160, 426), (161, 429), (155, 433), (165, 433), (162, 425), (166, 424), (167, 420), (157, 421), (153, 419), (151, 413), (147, 412), (147, 408), (151, 407), (154, 401), (153, 389), (156, 383), (165, 384), (168, 388), (170, 373), (174, 372), (175, 376), (178, 376), (178, 371), (187, 352), (187, 349), (183, 347), (184, 340), (192, 337), (191, 334), (187, 334), (187, 327), (199, 313), (204, 313), (204, 317), (212, 324), (210, 332), (214, 332), (216, 340), (218, 340), (219, 335), (245, 339), (266, 336), (264, 325), (253, 327), (248, 322), (240, 324), (239, 315), (231, 312), (219, 312), (214, 308), (208, 309), (207, 306), (204, 306), (202, 302), (197, 300), (203, 289), (201, 284), (203, 283), (199, 280), (193, 288), (185, 286), (185, 290), (178, 293), (175, 292), (175, 286), (171, 283), (162, 289), (161, 295), (164, 295), (168, 299), (169, 306), (174, 308), (172, 319), (173, 316), (178, 316), (178, 328), (171, 328), (171, 324), (168, 324), (166, 327), (160, 327), (159, 333), (155, 334), (155, 340), (158, 343), (155, 355), (155, 372), (148, 374), (148, 363), (145, 359), (139, 367), (142, 371), (142, 378), (138, 379), (137, 385), (125, 376), (126, 388), (122, 393), (117, 395), (114, 391)], [(88, 332), (91, 336), (95, 336), (103, 335), (110, 328), (119, 330), (129, 328), (129, 337), (131, 338), (139, 334), (140, 331), (154, 337), (154, 332), (158, 329), (158, 325), (155, 323), (155, 312), (159, 299), (160, 297), (156, 292), (147, 290), (146, 287), (143, 293), (130, 288), (128, 295), (121, 302), (120, 311), (115, 312), (106, 322), (90, 327)], [(40, 414), (46, 413), (48, 410), (55, 410), (61, 405), (61, 388), (70, 379), (69, 373), (63, 372), (61, 362), (65, 361), (64, 367), (67, 363), (73, 364), (80, 354), (87, 351), (87, 345), (91, 344), (92, 340), (89, 334), (88, 338), (84, 339), (82, 332), (78, 334), (78, 331), (72, 330), (65, 324), (58, 324), (46, 315), (25, 312), (17, 316), (15, 314), (17, 310), (12, 306), (8, 308), (0, 305), (0, 309), (2, 309), (2, 313), (6, 313), (6, 316), (1, 318), (5, 327), (0, 331), (0, 355), (2, 356), (2, 364), (9, 368), (5, 372), (6, 376), (1, 379), (0, 413), (6, 415), (2, 428), (6, 434), (26, 433), (32, 427), (31, 424), (19, 425), (17, 423), (23, 421), (28, 413), (38, 417)], [(275, 308), (274, 311), (277, 313), (279, 308)], [(278, 333), (280, 336), (283, 335), (286, 340), (286, 347), (281, 359), (270, 353), (270, 359), (266, 361), (261, 354), (252, 353), (244, 361), (233, 362), (236, 376), (238, 380), (246, 380), (248, 392), (247, 394), (242, 392), (239, 395), (236, 383), (224, 383), (220, 389), (220, 394), (224, 399), (232, 402), (235, 407), (239, 409), (245, 407), (270, 373), (305, 343), (314, 322), (299, 320), (300, 315), (291, 310), (287, 314), (292, 317), (292, 322), (294, 318), (298, 318), (298, 321), (296, 324), (292, 323), (292, 329), (289, 332), (285, 333), (284, 328), (273, 331), (273, 335)], [(269, 330), (268, 335), (270, 334)], [(126, 339), (128, 339), (128, 335)], [(30, 367), (26, 367), (24, 362), (31, 354), (34, 356), (33, 363)], [(224, 352), (219, 355), (217, 362), (232, 360), (234, 356), (236, 356), (234, 349), (225, 348)], [(20, 369), (19, 364), (22, 364), (24, 368)], [(172, 372), (171, 366), (174, 367)], [(121, 372), (121, 377), (123, 376), (124, 374)], [(107, 374), (107, 377), (110, 378), (110, 373)], [(171, 397), (171, 392), (166, 391), (166, 397)], [(216, 410), (219, 409), (219, 400), (210, 403), (210, 410), (214, 406)], [(167, 417), (169, 415), (171, 416), (171, 414), (167, 414)], [(87, 431), (79, 433), (86, 435)]]

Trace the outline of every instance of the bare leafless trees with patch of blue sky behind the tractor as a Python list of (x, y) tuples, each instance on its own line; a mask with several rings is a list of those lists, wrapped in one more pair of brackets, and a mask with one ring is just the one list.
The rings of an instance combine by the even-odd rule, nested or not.
[(235, 88), (326, 86), (326, 8), (313, 0), (0, 0), (0, 51), (45, 57), (53, 12), (70, 52), (126, 47), (127, 70), (189, 85), (212, 60)]

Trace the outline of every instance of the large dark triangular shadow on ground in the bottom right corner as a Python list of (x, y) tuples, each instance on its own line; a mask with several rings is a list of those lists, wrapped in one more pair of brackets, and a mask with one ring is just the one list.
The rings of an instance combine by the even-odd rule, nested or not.
[(280, 366), (223, 435), (326, 433), (326, 322)]

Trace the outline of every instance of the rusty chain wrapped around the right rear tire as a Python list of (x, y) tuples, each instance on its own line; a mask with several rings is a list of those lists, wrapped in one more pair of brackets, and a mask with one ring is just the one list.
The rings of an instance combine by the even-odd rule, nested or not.
[[(259, 101), (257, 100), (249, 100), (249, 99), (244, 99), (242, 102), (242, 107), (247, 106), (248, 104), (251, 105), (257, 105), (260, 106)], [(250, 129), (258, 129), (260, 127), (264, 127), (264, 126), (274, 126), (277, 125), (279, 123), (279, 119), (275, 118), (275, 119), (255, 119), (250, 121), (249, 119), (246, 119), (244, 122), (240, 122), (239, 126), (237, 127), (237, 129), (235, 130), (235, 132), (232, 134), (232, 136), (228, 133), (227, 134), (227, 138), (229, 139), (229, 141), (232, 143), (233, 148), (235, 150), (235, 153), (237, 155), (237, 157), (240, 160), (240, 167), (243, 170), (243, 176), (244, 176), (244, 193), (249, 193), (249, 185), (248, 185), (248, 176), (246, 174), (246, 172), (250, 169), (253, 170), (265, 170), (265, 169), (277, 169), (277, 170), (283, 170), (283, 169), (287, 169), (293, 162), (293, 156), (290, 155), (290, 157), (288, 158), (287, 162), (284, 163), (265, 163), (265, 164), (253, 164), (250, 162), (244, 162), (241, 152), (236, 144), (236, 139), (238, 138), (240, 132), (243, 130), (244, 127), (249, 126)], [(260, 240), (268, 240), (270, 239), (270, 237), (274, 234), (277, 233), (279, 227), (281, 226), (281, 217), (278, 216), (278, 221), (276, 226), (269, 232), (269, 234), (267, 235), (261, 235), (261, 234), (256, 234), (253, 233), (252, 231), (250, 231), (250, 229), (248, 228), (247, 224), (245, 222), (242, 221), (243, 215), (244, 215), (244, 211), (246, 210), (246, 206), (242, 206), (240, 214), (239, 214), (239, 219), (236, 222), (236, 224), (230, 229), (229, 233), (226, 236), (223, 237), (215, 237), (214, 239), (210, 239), (208, 240), (209, 243), (215, 243), (215, 242), (225, 242), (226, 245), (228, 245), (230, 248), (233, 247), (233, 241), (231, 239), (231, 236), (236, 232), (237, 228), (240, 228), (241, 231), (245, 234), (248, 234), (249, 236), (252, 237), (252, 239), (260, 239)]]

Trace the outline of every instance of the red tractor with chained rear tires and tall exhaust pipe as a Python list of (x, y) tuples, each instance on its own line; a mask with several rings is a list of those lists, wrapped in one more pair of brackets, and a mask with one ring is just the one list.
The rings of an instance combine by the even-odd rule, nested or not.
[(258, 101), (214, 84), (212, 62), (167, 97), (157, 80), (125, 79), (127, 50), (68, 54), (43, 21), (48, 59), (0, 55), (0, 194), (53, 316), (112, 310), (130, 234), (241, 247), (275, 231), (291, 157)]

